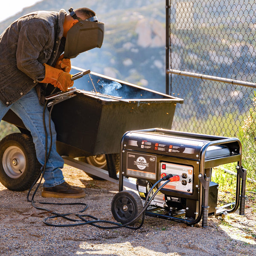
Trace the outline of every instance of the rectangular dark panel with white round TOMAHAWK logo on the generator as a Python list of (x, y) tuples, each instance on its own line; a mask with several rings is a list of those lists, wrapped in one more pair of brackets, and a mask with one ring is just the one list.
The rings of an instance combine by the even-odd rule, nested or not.
[(156, 179), (157, 157), (151, 155), (127, 153), (127, 174)]

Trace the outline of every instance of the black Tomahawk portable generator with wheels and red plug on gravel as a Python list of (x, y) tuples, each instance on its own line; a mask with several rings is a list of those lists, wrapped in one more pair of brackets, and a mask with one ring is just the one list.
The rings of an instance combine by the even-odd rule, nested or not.
[[(236, 200), (217, 207), (218, 184), (211, 181), (212, 168), (233, 162), (237, 162)], [(169, 183), (164, 185), (167, 176)], [(123, 190), (124, 177), (136, 180), (137, 193)], [(237, 138), (159, 128), (128, 131), (121, 141), (119, 193), (111, 211), (124, 224), (140, 214), (142, 202), (150, 199), (146, 209), (144, 205), (145, 215), (188, 225), (202, 219), (202, 227), (207, 227), (209, 215), (223, 218), (239, 204), (239, 214), (244, 215), (245, 183)]]

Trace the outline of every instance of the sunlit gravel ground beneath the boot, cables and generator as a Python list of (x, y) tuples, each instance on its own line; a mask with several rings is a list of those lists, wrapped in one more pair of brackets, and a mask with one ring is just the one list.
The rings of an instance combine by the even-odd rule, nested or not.
[[(92, 180), (83, 171), (64, 167), (64, 177), (70, 184), (83, 187), (82, 199), (49, 199), (35, 201), (82, 202), (88, 204), (86, 214), (114, 221), (111, 201), (118, 186), (103, 180)], [(146, 216), (139, 230), (120, 228), (104, 230), (90, 225), (49, 227), (43, 219), (49, 212), (35, 209), (26, 200), (27, 191), (13, 192), (0, 184), (0, 255), (1, 256), (253, 256), (256, 255), (256, 216), (252, 202), (246, 201), (246, 215), (228, 214), (221, 221), (209, 218), (209, 227), (195, 227), (175, 221)], [(36, 204), (40, 207), (42, 205)], [(51, 206), (58, 212), (74, 212), (81, 207)], [(255, 208), (254, 208), (255, 211)], [(55, 218), (54, 223), (70, 223)]]

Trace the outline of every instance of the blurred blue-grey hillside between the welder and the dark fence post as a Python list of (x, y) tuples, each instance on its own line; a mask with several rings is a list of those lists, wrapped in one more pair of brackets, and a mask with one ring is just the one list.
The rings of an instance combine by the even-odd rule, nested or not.
[(0, 23), (0, 32), (29, 12), (71, 6), (89, 7), (105, 23), (102, 48), (81, 53), (72, 65), (165, 92), (164, 0), (43, 0)]

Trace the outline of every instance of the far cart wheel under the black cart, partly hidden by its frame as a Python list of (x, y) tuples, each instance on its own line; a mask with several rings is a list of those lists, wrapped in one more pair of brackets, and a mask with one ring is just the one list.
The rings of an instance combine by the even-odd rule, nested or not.
[[(119, 172), (120, 168), (120, 155), (119, 154), (113, 154), (114, 160), (115, 160), (115, 166), (116, 166), (116, 173)], [(96, 156), (90, 156), (90, 157), (79, 157), (79, 161), (88, 163), (92, 166), (104, 169), (108, 171), (108, 166), (107, 166), (107, 160), (105, 157), (105, 154), (101, 155), (96, 155)], [(101, 177), (95, 176), (93, 174), (85, 172), (89, 177), (91, 177), (93, 180), (104, 180)]]

